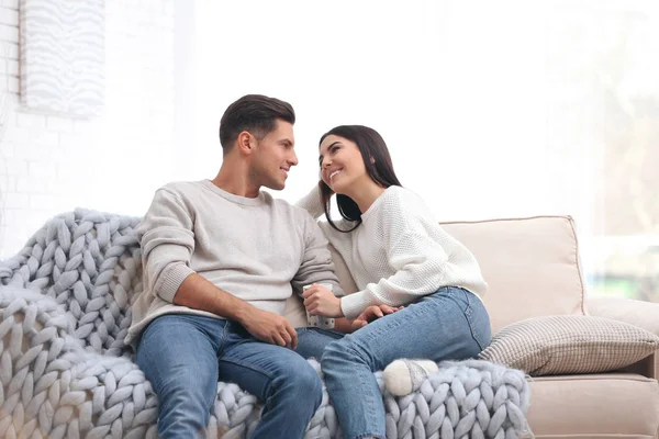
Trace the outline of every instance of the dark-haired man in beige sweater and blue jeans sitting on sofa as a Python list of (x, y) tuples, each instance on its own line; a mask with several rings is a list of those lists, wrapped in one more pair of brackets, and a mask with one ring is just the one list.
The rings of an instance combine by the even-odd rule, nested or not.
[(294, 122), (278, 99), (238, 99), (220, 122), (217, 176), (160, 188), (137, 229), (144, 292), (126, 340), (158, 395), (160, 438), (203, 437), (219, 380), (264, 402), (254, 438), (302, 438), (321, 404), (284, 302), (292, 286), (342, 290), (312, 217), (260, 191), (298, 165)]

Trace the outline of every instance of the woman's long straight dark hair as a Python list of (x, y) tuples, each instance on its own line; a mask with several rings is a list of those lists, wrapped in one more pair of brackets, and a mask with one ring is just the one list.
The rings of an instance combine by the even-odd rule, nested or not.
[[(391, 156), (389, 155), (389, 148), (382, 136), (375, 131), (364, 125), (339, 125), (335, 128), (330, 130), (321, 137), (322, 144), (325, 137), (330, 135), (339, 136), (354, 142), (361, 153), (364, 159), (364, 166), (369, 177), (382, 188), (389, 188), (390, 185), (402, 185), (399, 181), (395, 172), (393, 171), (393, 164), (391, 162)], [(322, 164), (321, 164), (322, 166)], [(332, 189), (321, 179), (319, 183), (321, 190), (321, 198), (323, 200), (323, 207), (325, 209), (325, 216), (330, 225), (338, 232), (353, 232), (361, 224), (361, 212), (357, 203), (347, 195), (336, 194), (336, 204), (338, 205), (338, 212), (344, 219), (356, 222), (355, 226), (348, 230), (342, 230), (338, 228), (332, 218), (330, 217)]]

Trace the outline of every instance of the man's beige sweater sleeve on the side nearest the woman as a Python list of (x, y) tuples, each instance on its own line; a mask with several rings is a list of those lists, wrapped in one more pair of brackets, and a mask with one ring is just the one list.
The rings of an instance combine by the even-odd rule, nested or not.
[(302, 256), (300, 269), (293, 277), (291, 284), (297, 291), (301, 292), (304, 285), (330, 283), (334, 295), (344, 295), (334, 271), (334, 262), (327, 248), (327, 239), (325, 239), (315, 221), (306, 213), (304, 213), (304, 255)]

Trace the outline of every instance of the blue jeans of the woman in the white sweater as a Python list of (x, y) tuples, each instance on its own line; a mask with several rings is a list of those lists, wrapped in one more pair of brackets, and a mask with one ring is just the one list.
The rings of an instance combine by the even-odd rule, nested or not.
[(489, 344), (490, 318), (482, 302), (448, 286), (345, 337), (306, 329), (298, 352), (321, 358), (345, 439), (384, 438), (384, 406), (373, 372), (399, 358), (473, 358)]

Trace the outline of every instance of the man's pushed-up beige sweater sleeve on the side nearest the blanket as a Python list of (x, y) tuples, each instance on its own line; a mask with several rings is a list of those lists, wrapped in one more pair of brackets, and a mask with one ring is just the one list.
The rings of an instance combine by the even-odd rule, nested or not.
[(159, 189), (137, 228), (142, 246), (144, 289), (172, 302), (183, 280), (193, 273), (192, 213), (177, 194)]

